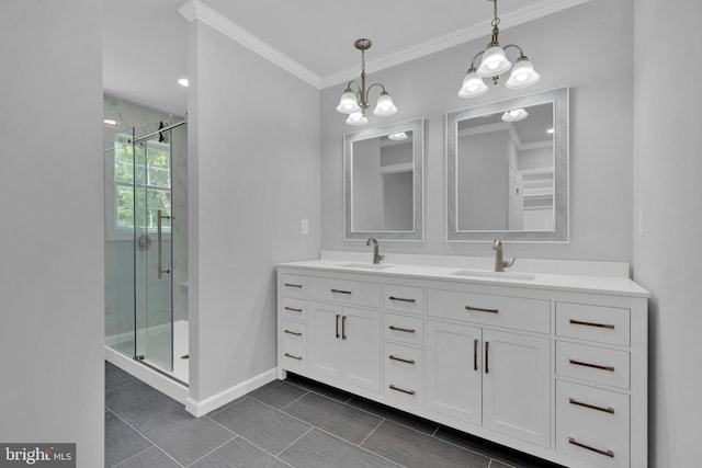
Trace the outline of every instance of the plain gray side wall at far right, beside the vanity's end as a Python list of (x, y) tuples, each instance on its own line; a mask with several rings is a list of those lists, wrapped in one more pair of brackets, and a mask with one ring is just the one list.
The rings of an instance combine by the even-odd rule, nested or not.
[[(633, 208), (644, 210), (643, 236), (633, 226), (634, 278), (653, 293), (649, 450), (659, 468), (702, 459), (700, 11), (684, 0), (634, 4)], [(681, 69), (661, 79), (664, 64)]]

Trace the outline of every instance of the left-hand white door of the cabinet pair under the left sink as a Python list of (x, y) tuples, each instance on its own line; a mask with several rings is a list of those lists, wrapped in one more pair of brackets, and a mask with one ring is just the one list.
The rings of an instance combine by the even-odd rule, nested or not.
[(308, 308), (309, 370), (341, 378), (341, 307), (309, 303)]

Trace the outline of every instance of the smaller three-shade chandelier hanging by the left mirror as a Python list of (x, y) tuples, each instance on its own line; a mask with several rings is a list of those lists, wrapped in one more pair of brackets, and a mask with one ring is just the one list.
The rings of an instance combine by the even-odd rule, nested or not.
[[(365, 116), (365, 111), (369, 109), (369, 92), (373, 87), (381, 87), (381, 95), (377, 98), (377, 103), (373, 110), (373, 114), (378, 117), (387, 117), (397, 113), (397, 107), (393, 102), (393, 98), (385, 91), (385, 87), (381, 83), (373, 83), (367, 89), (365, 88), (365, 50), (371, 48), (370, 39), (358, 39), (353, 43), (355, 48), (361, 50), (361, 84), (355, 81), (349, 81), (347, 89), (341, 94), (341, 100), (337, 106), (337, 111), (342, 114), (349, 114), (347, 124), (349, 125), (364, 125), (369, 119)], [(352, 87), (356, 88), (354, 92)]]

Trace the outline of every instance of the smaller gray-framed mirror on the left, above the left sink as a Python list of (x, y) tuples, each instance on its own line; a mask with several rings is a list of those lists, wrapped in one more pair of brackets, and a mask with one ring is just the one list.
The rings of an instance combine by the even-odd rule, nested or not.
[(343, 136), (346, 239), (423, 239), (424, 121)]

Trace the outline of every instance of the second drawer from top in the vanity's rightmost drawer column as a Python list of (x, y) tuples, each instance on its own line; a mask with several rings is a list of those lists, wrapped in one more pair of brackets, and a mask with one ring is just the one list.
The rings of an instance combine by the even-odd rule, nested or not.
[(625, 351), (556, 342), (556, 374), (612, 387), (629, 388), (630, 358)]

